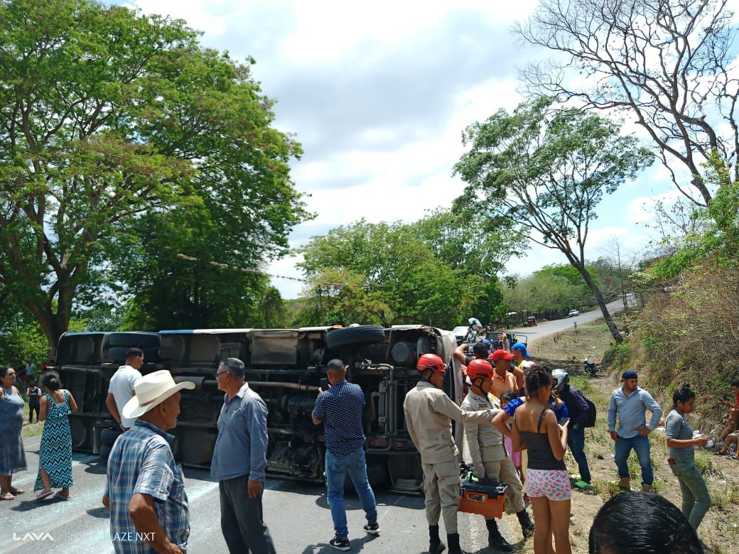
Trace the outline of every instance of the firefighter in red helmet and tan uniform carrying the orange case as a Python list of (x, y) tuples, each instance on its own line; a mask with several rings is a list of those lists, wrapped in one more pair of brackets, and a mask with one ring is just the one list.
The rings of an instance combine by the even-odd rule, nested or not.
[[(462, 403), (462, 409), (466, 411), (492, 409), (497, 414), (500, 408), (494, 406), (488, 396), (493, 384), (493, 366), (487, 360), (473, 360), (467, 366), (467, 376), (472, 386)], [(503, 434), (493, 425), (477, 423), (465, 423), (464, 432), (474, 466), (474, 476), (478, 479), (487, 477), (508, 485), (505, 493), (505, 511), (516, 514), (523, 537), (528, 538), (534, 533), (534, 523), (526, 513), (521, 480), (503, 445)], [(489, 546), (494, 550), (512, 552), (511, 544), (500, 535), (497, 521), (490, 518), (486, 519), (485, 523), (488, 527)]]

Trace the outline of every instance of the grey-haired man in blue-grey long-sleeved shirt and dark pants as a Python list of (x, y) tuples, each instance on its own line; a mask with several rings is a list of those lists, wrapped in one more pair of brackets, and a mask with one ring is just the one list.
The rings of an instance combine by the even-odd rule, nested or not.
[(226, 358), (216, 372), (225, 392), (211, 476), (218, 479), (221, 531), (231, 554), (274, 554), (262, 516), (267, 467), (267, 405), (244, 380), (244, 363)]

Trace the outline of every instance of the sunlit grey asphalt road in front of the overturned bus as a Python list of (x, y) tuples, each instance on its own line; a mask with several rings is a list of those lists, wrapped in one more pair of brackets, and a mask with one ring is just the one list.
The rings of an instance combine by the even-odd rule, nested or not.
[[(105, 468), (98, 464), (96, 456), (75, 454), (72, 499), (36, 501), (33, 484), (38, 469), (39, 442), (40, 437), (25, 440), (29, 469), (13, 476), (13, 485), (26, 492), (13, 501), (0, 502), (0, 552), (112, 553), (109, 520), (101, 504)], [(219, 524), (217, 482), (212, 481), (206, 471), (186, 468), (185, 479), (191, 514), (188, 554), (228, 553)], [(383, 554), (390, 551), (425, 552), (428, 527), (423, 498), (387, 490), (375, 490), (375, 496), (381, 533), (369, 536), (362, 530), (364, 512), (357, 497), (354, 493), (347, 494), (352, 551)], [(268, 479), (264, 510), (278, 553), (336, 552), (328, 545), (333, 537), (333, 524), (323, 486)], [(463, 548), (473, 553), (487, 553), (483, 518), (460, 513), (459, 523)], [(509, 541), (522, 540), (515, 516), (505, 516), (500, 528)], [(36, 540), (27, 533), (35, 533)]]

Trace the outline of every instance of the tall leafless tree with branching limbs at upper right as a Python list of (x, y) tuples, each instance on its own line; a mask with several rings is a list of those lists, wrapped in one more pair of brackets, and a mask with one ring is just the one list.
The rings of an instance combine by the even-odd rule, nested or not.
[[(541, 0), (515, 30), (556, 58), (522, 72), (535, 95), (636, 114), (675, 187), (707, 206), (706, 163), (739, 179), (737, 27), (727, 0)], [(573, 71), (580, 75), (571, 79)], [(583, 83), (582, 86), (579, 83)], [(715, 153), (715, 154), (714, 154)], [(674, 171), (678, 160), (692, 190)]]

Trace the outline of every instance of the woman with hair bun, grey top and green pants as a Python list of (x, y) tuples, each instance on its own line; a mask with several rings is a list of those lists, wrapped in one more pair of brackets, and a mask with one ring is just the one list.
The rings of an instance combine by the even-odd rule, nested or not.
[(670, 469), (680, 483), (683, 495), (683, 515), (693, 529), (703, 521), (711, 507), (711, 496), (701, 472), (695, 467), (695, 446), (705, 446), (708, 437), (693, 437), (692, 428), (685, 415), (693, 411), (695, 392), (688, 383), (672, 394), (672, 411), (664, 420), (664, 431), (667, 435), (667, 447), (670, 452)]

